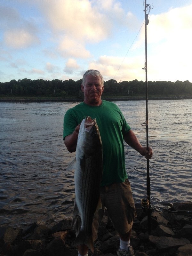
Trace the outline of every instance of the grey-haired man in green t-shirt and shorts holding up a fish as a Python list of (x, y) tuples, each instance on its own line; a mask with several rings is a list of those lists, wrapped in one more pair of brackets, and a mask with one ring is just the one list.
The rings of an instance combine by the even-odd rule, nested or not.
[[(84, 102), (66, 112), (63, 136), (68, 151), (76, 151), (81, 121), (85, 116), (96, 118), (103, 147), (103, 176), (100, 187), (103, 209), (93, 220), (93, 241), (97, 238), (98, 227), (106, 207), (114, 228), (120, 236), (117, 255), (134, 256), (133, 248), (130, 246), (130, 236), (136, 212), (131, 186), (125, 171), (123, 140), (147, 159), (152, 157), (153, 152), (151, 148), (147, 150), (141, 146), (116, 104), (101, 100), (104, 81), (99, 71), (92, 69), (86, 71), (81, 89), (84, 92)], [(72, 221), (76, 235), (79, 228), (77, 217), (79, 216), (74, 216)], [(79, 256), (87, 256), (88, 247), (80, 244), (78, 252)]]

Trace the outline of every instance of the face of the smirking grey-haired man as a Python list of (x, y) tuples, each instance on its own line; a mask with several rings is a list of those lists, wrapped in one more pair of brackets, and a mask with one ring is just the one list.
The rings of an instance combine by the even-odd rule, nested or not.
[(81, 85), (81, 90), (84, 92), (84, 101), (87, 104), (100, 103), (101, 94), (103, 93), (104, 86), (101, 84), (100, 76), (94, 77), (87, 75), (85, 77), (84, 86)]

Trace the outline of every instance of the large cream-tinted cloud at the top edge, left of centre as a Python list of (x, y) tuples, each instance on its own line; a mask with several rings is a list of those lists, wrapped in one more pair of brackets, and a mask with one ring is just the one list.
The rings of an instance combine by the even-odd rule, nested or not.
[(38, 4), (55, 32), (94, 43), (110, 33), (107, 17), (92, 7), (91, 1), (44, 0)]

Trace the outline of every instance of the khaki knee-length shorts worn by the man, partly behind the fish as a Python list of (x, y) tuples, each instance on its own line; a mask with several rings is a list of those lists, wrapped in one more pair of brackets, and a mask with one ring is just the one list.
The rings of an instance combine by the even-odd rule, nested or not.
[[(119, 234), (129, 232), (132, 229), (133, 220), (136, 217), (129, 180), (127, 179), (122, 183), (114, 183), (101, 187), (100, 197), (103, 208), (96, 212), (93, 218), (93, 241), (97, 239), (97, 232), (105, 212), (105, 207), (116, 231)], [(76, 207), (76, 202), (74, 207)], [(76, 230), (77, 236), (81, 228), (81, 218), (79, 215), (73, 216), (72, 226)]]

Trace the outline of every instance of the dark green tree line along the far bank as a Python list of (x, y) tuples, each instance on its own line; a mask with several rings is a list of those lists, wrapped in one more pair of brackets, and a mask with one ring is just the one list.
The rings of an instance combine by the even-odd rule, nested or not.
[[(75, 97), (83, 98), (81, 92), (82, 79), (74, 81), (54, 79), (52, 81), (24, 78), (0, 82), (0, 96), (39, 96), (39, 97)], [(117, 82), (110, 79), (104, 82), (104, 96), (141, 96), (146, 93), (146, 83), (132, 80)], [(148, 81), (148, 95), (150, 96), (192, 96), (192, 83), (187, 81)]]

